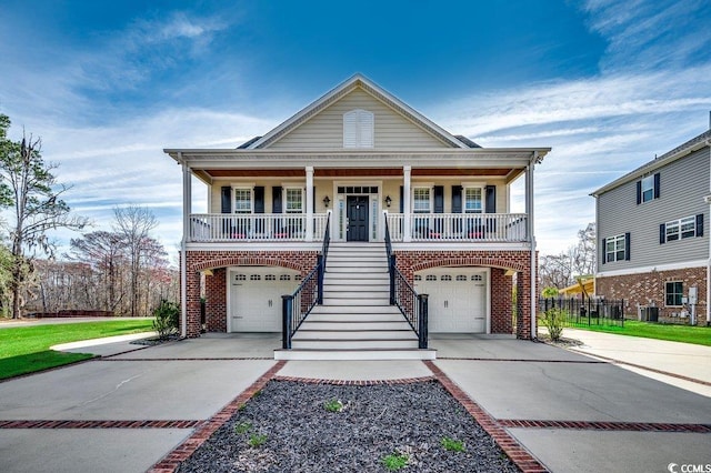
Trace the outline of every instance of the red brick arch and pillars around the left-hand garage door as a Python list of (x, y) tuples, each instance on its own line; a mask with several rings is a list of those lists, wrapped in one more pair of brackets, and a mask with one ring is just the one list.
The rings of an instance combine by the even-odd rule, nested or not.
[(188, 251), (187, 256), (187, 336), (200, 336), (200, 271), (206, 276), (206, 322), (209, 331), (227, 331), (226, 268), (240, 265), (284, 266), (307, 275), (317, 262), (316, 251)]

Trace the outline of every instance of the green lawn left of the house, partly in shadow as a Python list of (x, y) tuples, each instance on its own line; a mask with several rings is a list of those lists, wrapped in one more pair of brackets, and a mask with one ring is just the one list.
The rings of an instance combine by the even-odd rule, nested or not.
[(87, 360), (88, 353), (61, 353), (59, 343), (148, 332), (152, 320), (112, 320), (0, 329), (0, 380)]

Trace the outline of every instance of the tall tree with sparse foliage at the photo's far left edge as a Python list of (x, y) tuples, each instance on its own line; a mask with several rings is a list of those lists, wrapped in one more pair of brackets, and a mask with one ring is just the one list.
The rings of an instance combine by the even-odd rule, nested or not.
[(22, 284), (32, 269), (34, 254), (40, 251), (53, 256), (54, 244), (48, 232), (57, 229), (81, 230), (87, 219), (72, 215), (61, 195), (69, 190), (57, 182), (52, 170), (57, 164), (44, 163), (41, 155), (41, 140), (32, 135), (22, 137), (20, 143), (6, 139), (10, 120), (0, 115), (0, 201), (13, 207), (10, 233), (12, 254), (11, 283), (12, 318), (20, 316)]

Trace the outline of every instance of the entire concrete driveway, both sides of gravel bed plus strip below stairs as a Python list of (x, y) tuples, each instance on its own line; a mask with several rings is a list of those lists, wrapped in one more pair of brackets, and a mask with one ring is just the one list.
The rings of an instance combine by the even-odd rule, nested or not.
[[(146, 471), (184, 441), (199, 443), (207, 420), (273, 373), (278, 345), (278, 335), (210, 334), (72, 349), (103, 358), (0, 383), (0, 471)], [(554, 472), (711, 465), (709, 397), (542, 343), (462, 335), (431, 345), (431, 364), (288, 362), (276, 374), (358, 383), (437, 375), (503, 442)]]

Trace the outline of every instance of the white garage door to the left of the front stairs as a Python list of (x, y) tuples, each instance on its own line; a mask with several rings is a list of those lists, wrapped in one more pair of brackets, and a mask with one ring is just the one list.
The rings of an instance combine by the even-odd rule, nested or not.
[(299, 272), (280, 266), (229, 271), (230, 332), (281, 332), (281, 296), (299, 286)]

